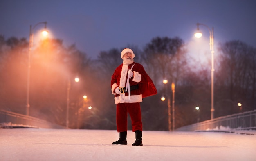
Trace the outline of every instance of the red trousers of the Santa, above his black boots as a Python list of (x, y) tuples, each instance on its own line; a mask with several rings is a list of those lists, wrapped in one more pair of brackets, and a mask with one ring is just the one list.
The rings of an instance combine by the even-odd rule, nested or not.
[(132, 131), (142, 131), (140, 103), (117, 104), (117, 132), (127, 131), (127, 114), (132, 120)]

